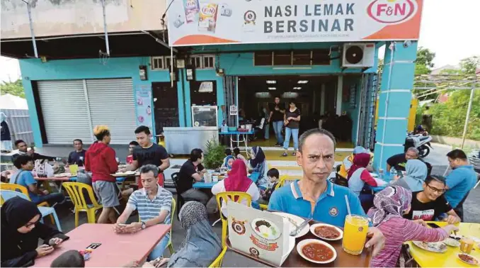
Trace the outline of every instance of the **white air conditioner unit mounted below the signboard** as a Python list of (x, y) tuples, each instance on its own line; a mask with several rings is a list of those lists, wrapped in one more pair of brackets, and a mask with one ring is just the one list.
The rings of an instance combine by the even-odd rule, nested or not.
[(342, 67), (372, 67), (375, 60), (375, 43), (343, 44)]

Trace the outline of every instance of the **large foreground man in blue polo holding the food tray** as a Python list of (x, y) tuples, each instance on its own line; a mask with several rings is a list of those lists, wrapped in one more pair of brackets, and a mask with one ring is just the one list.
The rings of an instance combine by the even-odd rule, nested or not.
[[(270, 211), (283, 211), (303, 218), (343, 227), (348, 215), (348, 199), (352, 214), (365, 216), (358, 196), (350, 189), (328, 180), (335, 164), (336, 142), (327, 130), (307, 130), (299, 138), (297, 163), (303, 169), (303, 179), (273, 192), (268, 204)], [(384, 245), (384, 235), (369, 228), (372, 238), (365, 247), (374, 247), (375, 256)]]

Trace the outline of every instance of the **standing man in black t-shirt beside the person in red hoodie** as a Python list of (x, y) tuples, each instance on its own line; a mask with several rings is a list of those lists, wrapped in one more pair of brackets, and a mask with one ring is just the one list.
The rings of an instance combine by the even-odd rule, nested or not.
[[(170, 160), (165, 148), (156, 143), (152, 143), (152, 133), (146, 125), (140, 125), (135, 130), (137, 142), (140, 146), (133, 150), (132, 164), (127, 165), (123, 170), (136, 170), (145, 164), (154, 164), (159, 167), (159, 184), (164, 186), (164, 170), (170, 167)], [(142, 188), (142, 181), (138, 181), (138, 187)]]

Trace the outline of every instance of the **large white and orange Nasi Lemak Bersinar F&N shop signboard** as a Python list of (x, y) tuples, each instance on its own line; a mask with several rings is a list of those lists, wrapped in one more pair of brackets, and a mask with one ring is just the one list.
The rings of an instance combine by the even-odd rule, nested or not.
[(417, 40), (423, 0), (166, 0), (168, 43)]

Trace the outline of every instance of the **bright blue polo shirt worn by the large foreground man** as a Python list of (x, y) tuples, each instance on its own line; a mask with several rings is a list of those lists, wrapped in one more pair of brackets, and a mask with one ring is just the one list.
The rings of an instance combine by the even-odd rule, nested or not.
[(348, 215), (345, 196), (347, 196), (351, 213), (365, 216), (358, 196), (344, 186), (333, 184), (328, 179), (324, 193), (318, 200), (310, 200), (304, 197), (298, 186), (298, 181), (285, 185), (273, 191), (268, 202), (269, 211), (282, 211), (303, 218), (342, 227), (345, 225), (345, 217)]

